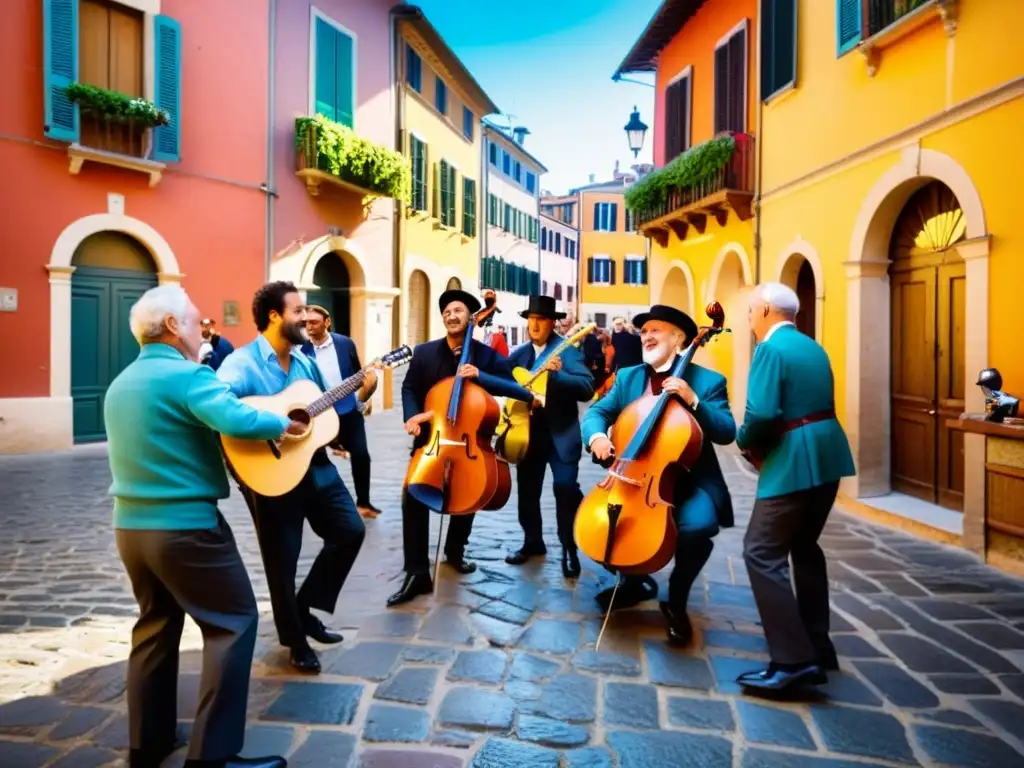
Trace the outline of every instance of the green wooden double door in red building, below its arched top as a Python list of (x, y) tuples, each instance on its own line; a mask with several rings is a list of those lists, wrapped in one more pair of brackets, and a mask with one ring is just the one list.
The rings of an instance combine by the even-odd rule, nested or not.
[(71, 283), (71, 396), (75, 442), (106, 439), (103, 399), (114, 377), (138, 355), (128, 314), (157, 275), (81, 266)]

